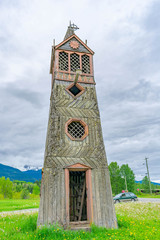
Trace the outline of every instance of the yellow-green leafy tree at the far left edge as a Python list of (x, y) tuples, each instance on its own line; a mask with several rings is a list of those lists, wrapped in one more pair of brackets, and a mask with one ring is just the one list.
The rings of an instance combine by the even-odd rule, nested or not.
[(12, 198), (13, 192), (13, 183), (9, 178), (5, 179), (5, 177), (0, 178), (0, 192), (3, 194), (4, 198)]

